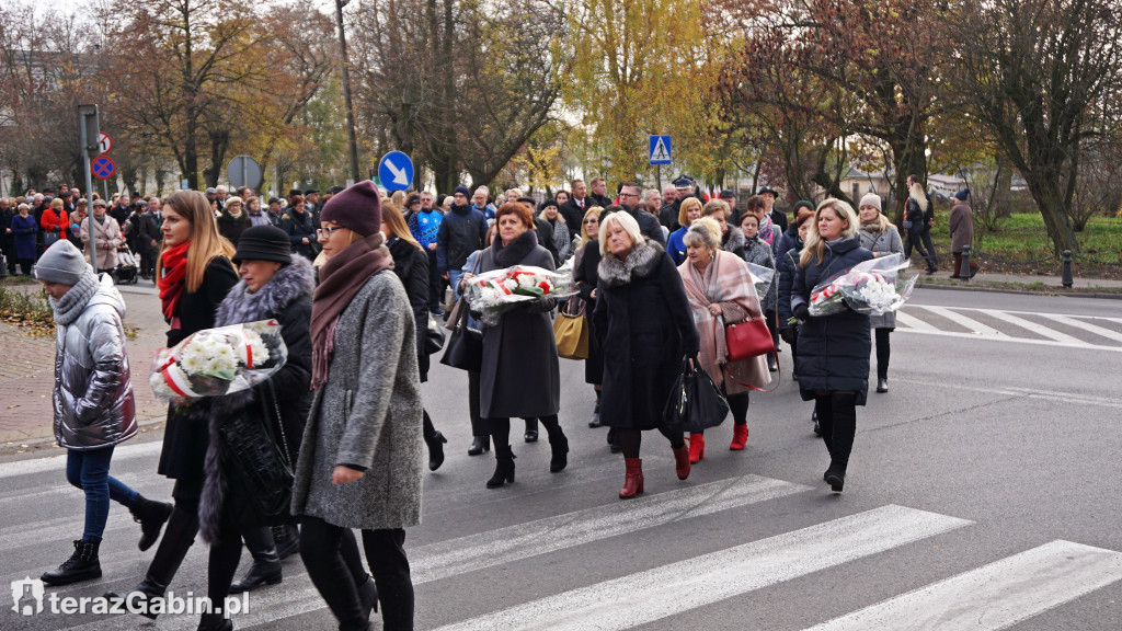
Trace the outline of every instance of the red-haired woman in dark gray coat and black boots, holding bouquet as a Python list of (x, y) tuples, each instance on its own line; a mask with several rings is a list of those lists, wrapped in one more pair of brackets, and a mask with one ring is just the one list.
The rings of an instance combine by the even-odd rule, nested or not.
[[(482, 252), (479, 272), (532, 265), (553, 271), (553, 257), (537, 245), (530, 209), (518, 202), (503, 204), (495, 214), (497, 238)], [(495, 475), (487, 488), (514, 482), (511, 418), (537, 418), (550, 437), (550, 472), (569, 464), (569, 439), (558, 422), (561, 409), (561, 369), (550, 311), (557, 300), (544, 298), (517, 304), (484, 326), (484, 359), (479, 373), (479, 413), (487, 419), (495, 443)]]

